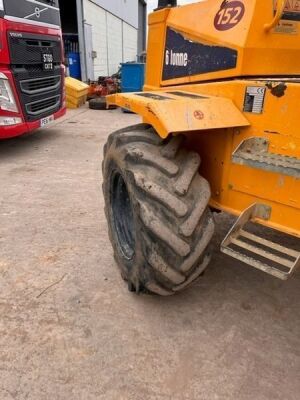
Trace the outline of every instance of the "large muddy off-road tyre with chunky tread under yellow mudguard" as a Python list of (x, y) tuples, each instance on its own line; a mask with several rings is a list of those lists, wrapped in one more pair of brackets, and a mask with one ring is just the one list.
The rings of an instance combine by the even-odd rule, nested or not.
[(172, 295), (210, 261), (214, 221), (200, 157), (183, 136), (162, 140), (148, 125), (112, 133), (104, 148), (103, 193), (115, 260), (128, 288)]

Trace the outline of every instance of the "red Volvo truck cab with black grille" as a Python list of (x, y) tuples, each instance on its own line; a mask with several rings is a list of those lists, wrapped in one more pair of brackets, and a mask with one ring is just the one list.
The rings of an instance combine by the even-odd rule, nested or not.
[(0, 0), (0, 139), (66, 112), (58, 0)]

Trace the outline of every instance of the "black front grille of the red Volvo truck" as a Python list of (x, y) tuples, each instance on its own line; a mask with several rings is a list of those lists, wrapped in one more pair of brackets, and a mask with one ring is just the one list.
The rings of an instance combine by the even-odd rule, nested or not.
[[(53, 114), (62, 106), (62, 49), (58, 36), (8, 32), (16, 87), (26, 121)], [(53, 54), (53, 70), (43, 69), (43, 54)]]

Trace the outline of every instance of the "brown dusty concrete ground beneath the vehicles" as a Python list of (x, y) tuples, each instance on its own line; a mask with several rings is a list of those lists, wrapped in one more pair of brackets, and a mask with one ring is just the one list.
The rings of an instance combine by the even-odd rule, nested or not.
[(1, 400), (296, 400), (299, 273), (217, 249), (171, 298), (127, 292), (103, 213), (102, 147), (138, 117), (87, 108), (0, 142)]

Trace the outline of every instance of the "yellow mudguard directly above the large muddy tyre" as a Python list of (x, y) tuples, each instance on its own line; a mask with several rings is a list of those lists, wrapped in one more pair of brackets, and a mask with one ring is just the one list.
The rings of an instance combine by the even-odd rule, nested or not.
[(107, 96), (117, 105), (141, 115), (162, 138), (170, 133), (249, 126), (232, 100), (184, 91), (117, 93)]

